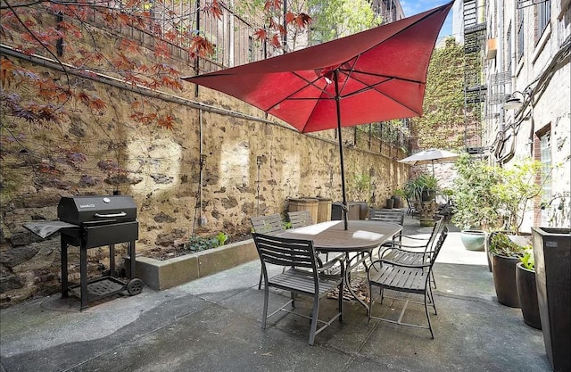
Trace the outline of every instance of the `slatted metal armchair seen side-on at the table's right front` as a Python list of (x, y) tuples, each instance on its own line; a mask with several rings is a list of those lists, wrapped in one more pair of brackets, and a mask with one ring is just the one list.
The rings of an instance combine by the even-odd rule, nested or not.
[[(434, 309), (434, 315), (437, 315), (436, 306), (434, 304), (434, 296), (432, 293), (432, 287), (430, 285), (430, 276), (432, 274), (432, 269), (434, 267), (434, 261), (438, 256), (438, 253), (443, 247), (444, 241), (448, 236), (448, 227), (444, 226), (443, 231), (440, 234), (438, 241), (434, 245), (434, 252), (431, 253), (430, 260), (422, 265), (407, 265), (402, 263), (396, 263), (391, 260), (375, 260), (371, 263), (371, 266), (367, 269), (367, 279), (368, 279), (368, 290), (371, 293), (370, 308), (368, 311), (368, 321), (371, 318), (382, 320), (390, 323), (395, 323), (401, 326), (409, 327), (419, 327), (427, 328), (430, 330), (430, 335), (434, 339), (434, 332), (432, 325), (430, 323), (430, 314), (428, 312), (428, 305), (432, 306)], [(381, 289), (381, 303), (385, 298), (385, 289), (390, 289), (396, 292), (403, 293), (418, 293), (424, 295), (424, 305), (426, 312), (426, 320), (428, 321), (428, 326), (403, 323), (402, 318), (404, 317), (404, 312), (410, 302), (422, 304), (423, 302), (411, 301), (407, 297), (393, 297), (392, 300), (404, 301), (404, 305), (401, 310), (401, 314), (397, 320), (389, 318), (374, 317), (373, 312), (373, 286), (378, 286)], [(389, 298), (389, 297), (387, 297)]]

